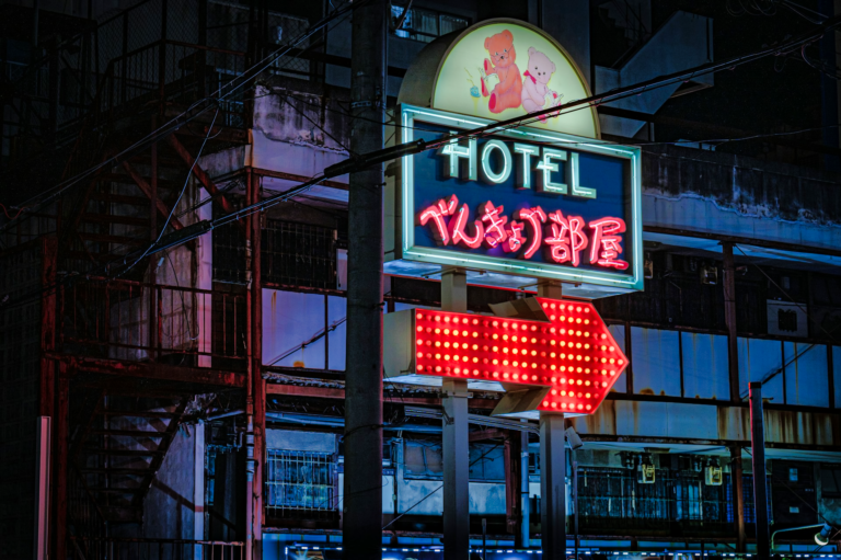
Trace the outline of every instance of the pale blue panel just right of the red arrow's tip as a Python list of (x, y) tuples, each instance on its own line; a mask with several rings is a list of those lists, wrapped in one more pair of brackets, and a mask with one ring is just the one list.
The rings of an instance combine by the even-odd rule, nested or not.
[(677, 331), (631, 329), (634, 392), (680, 397), (680, 346)]

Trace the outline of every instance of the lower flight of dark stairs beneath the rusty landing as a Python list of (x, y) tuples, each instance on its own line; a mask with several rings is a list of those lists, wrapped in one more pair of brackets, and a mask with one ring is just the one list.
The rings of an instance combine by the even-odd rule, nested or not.
[(76, 431), (70, 458), (106, 521), (139, 523), (143, 500), (177, 434), (188, 396), (100, 393)]

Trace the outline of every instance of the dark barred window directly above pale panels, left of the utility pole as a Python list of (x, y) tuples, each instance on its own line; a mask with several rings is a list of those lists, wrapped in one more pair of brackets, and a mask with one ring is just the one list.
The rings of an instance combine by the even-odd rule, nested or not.
[(268, 220), (263, 230), (263, 282), (279, 286), (336, 287), (336, 230)]

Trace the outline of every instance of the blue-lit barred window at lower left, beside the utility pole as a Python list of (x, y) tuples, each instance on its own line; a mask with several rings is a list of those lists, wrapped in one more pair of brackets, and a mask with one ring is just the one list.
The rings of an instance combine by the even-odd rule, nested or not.
[(266, 511), (275, 517), (332, 518), (336, 464), (331, 453), (268, 449)]

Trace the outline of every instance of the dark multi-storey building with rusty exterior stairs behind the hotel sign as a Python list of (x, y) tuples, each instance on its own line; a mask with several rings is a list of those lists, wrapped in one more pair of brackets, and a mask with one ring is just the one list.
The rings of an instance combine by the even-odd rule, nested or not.
[[(0, 7), (9, 558), (31, 557), (37, 530), (38, 416), (51, 419), (56, 558), (337, 553), (347, 175), (183, 238), (352, 156), (353, 11), (64, 4)], [(391, 10), (384, 118), (427, 45), (491, 19), (554, 37), (597, 94), (758, 48), (752, 34), (733, 38), (746, 22), (774, 39), (810, 24), (644, 0)], [(813, 61), (834, 64), (815, 49)], [(571, 549), (753, 551), (756, 381), (772, 533), (841, 526), (838, 92), (814, 68), (768, 92), (770, 78), (751, 71), (598, 108), (602, 140), (642, 148), (645, 286), (595, 300), (630, 366), (595, 414), (566, 420), (583, 443), (567, 450)], [(481, 72), (465, 72), (470, 88)], [(799, 104), (774, 115), (782, 91)], [(746, 130), (757, 106), (769, 124)], [(166, 249), (146, 254), (151, 242)], [(441, 306), (440, 277), (383, 285), (384, 313)], [(533, 294), (472, 285), (468, 307), (488, 313)], [(533, 422), (489, 416), (500, 397), (469, 401), (471, 546), (484, 534), (494, 555), (515, 558), (540, 548), (540, 445)], [(382, 545), (395, 558), (431, 555), (440, 390), (387, 381), (383, 398)], [(776, 550), (837, 552), (837, 540), (816, 549), (819, 528), (776, 535)]]

